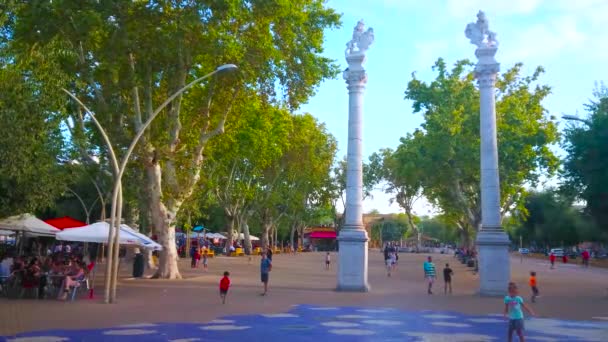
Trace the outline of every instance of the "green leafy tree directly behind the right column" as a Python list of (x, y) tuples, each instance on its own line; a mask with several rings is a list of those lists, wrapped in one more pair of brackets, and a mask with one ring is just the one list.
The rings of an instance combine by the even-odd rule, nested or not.
[[(418, 140), (423, 194), (459, 228), (467, 245), (481, 224), (479, 91), (472, 67), (465, 60), (448, 70), (439, 59), (435, 80), (427, 83), (413, 75), (405, 92), (414, 113), (424, 115), (422, 129), (410, 137)], [(558, 165), (549, 149), (558, 139), (556, 125), (542, 106), (550, 89), (537, 84), (543, 69), (523, 76), (521, 67), (516, 64), (496, 81), (503, 215), (522, 209), (526, 186), (553, 174)]]

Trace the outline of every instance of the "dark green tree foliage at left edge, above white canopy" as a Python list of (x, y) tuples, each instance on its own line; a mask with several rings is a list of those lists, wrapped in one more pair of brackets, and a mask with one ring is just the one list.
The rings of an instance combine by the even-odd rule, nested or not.
[(26, 65), (1, 57), (0, 63), (0, 217), (5, 217), (51, 206), (66, 190), (60, 163), (67, 156), (60, 103)]

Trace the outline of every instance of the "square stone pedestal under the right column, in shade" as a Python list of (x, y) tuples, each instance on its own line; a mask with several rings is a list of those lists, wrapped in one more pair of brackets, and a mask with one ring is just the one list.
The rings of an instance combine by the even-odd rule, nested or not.
[(477, 234), (479, 294), (504, 296), (511, 281), (509, 236), (501, 227), (482, 227)]

